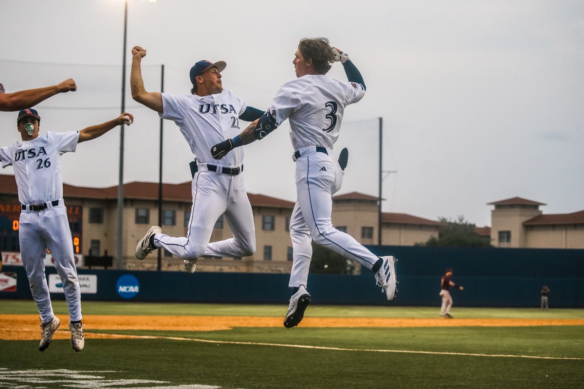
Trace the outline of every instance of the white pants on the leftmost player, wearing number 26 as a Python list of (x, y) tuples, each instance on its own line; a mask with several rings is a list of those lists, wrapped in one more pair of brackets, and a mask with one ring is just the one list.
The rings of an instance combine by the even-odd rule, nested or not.
[(22, 211), (19, 221), (20, 256), (29, 278), (30, 292), (39, 308), (42, 323), (53, 319), (53, 306), (44, 274), (44, 258), (47, 248), (53, 255), (55, 269), (61, 277), (65, 300), (69, 309), (69, 320), (83, 318), (81, 314), (81, 289), (75, 259), (73, 240), (67, 208), (63, 200), (53, 207), (48, 203), (43, 211)]

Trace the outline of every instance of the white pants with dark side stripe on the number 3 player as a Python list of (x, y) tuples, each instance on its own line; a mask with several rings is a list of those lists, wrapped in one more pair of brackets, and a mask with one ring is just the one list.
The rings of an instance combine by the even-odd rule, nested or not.
[(296, 160), (297, 201), (290, 219), (293, 264), (288, 286), (307, 286), (313, 239), (345, 258), (373, 268), (379, 257), (332, 225), (332, 195), (340, 189), (345, 174), (331, 157), (332, 150), (327, 150), (328, 155), (317, 152), (314, 146), (298, 151), (301, 157)]

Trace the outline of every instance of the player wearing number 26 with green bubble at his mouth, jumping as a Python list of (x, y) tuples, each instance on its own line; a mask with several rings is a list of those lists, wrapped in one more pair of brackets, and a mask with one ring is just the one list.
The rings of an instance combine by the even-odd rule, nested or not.
[(53, 255), (55, 269), (63, 283), (69, 309), (71, 345), (75, 351), (81, 351), (85, 344), (81, 324), (81, 290), (73, 257), (67, 208), (63, 202), (60, 156), (74, 152), (77, 143), (97, 138), (117, 125), (124, 122), (130, 124), (133, 120), (133, 115), (124, 112), (113, 120), (81, 131), (48, 131), (47, 135), (39, 136), (39, 113), (33, 108), (27, 108), (18, 113), (16, 120), (22, 140), (0, 148), (2, 167), (12, 165), (14, 169), (18, 199), (22, 204), (19, 219), (20, 255), (29, 278), (30, 291), (39, 308), (40, 327), (43, 330), (40, 351), (51, 344), (53, 334), (60, 325), (60, 320), (53, 314), (44, 274), (47, 249)]

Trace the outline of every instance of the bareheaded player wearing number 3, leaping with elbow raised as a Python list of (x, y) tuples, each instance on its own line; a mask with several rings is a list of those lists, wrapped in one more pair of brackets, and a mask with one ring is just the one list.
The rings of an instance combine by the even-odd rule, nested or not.
[[(334, 61), (343, 64), (349, 82), (326, 76)], [(345, 107), (365, 94), (363, 77), (349, 56), (332, 48), (326, 38), (300, 40), (292, 63), (297, 79), (281, 86), (267, 112), (239, 136), (211, 149), (213, 157), (221, 159), (238, 146), (264, 138), (284, 120), (290, 121), (290, 139), (296, 150), (297, 201), (290, 220), (293, 265), (289, 286), (294, 294), (284, 320), (286, 328), (300, 323), (310, 303), (306, 285), (311, 240), (373, 270), (390, 302), (395, 298), (397, 282), (394, 257), (377, 257), (350, 235), (336, 230), (331, 222), (332, 195), (343, 179), (342, 169), (333, 158), (333, 145), (339, 137)]]

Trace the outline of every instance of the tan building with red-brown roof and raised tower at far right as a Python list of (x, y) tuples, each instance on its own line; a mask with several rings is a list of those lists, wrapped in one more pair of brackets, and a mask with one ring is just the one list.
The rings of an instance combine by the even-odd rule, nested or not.
[(488, 205), (495, 247), (584, 248), (584, 211), (544, 215), (544, 203), (520, 197)]

